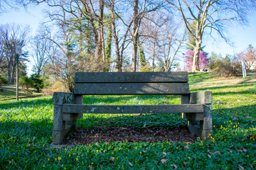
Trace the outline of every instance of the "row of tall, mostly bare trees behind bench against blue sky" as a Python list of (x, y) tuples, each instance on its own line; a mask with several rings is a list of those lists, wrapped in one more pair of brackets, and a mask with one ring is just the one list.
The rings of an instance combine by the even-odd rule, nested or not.
[[(60, 79), (69, 91), (75, 72), (181, 69), (177, 60), (184, 48), (190, 50), (189, 71), (198, 72), (206, 60), (206, 33), (228, 41), (224, 32), (230, 21), (245, 22), (247, 12), (255, 8), (253, 0), (16, 0), (9, 5), (33, 3), (47, 4), (46, 22), (30, 43), (28, 28), (1, 26), (0, 72), (14, 84), (18, 42), (23, 46), (22, 75), (31, 55), (34, 74)], [(19, 32), (12, 33), (13, 28)]]

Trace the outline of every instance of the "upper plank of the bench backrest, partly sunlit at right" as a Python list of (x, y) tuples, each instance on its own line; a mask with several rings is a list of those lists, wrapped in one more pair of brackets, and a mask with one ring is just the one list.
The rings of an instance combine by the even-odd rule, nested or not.
[(187, 72), (77, 72), (75, 83), (188, 82)]

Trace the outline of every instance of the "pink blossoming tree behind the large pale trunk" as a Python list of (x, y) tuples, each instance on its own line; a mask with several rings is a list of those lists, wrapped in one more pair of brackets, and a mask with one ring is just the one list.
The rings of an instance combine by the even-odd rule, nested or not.
[[(195, 53), (195, 50), (188, 50), (186, 52), (186, 55), (184, 56), (185, 62), (186, 62), (186, 65), (185, 65), (186, 72), (192, 71), (194, 53)], [(207, 65), (208, 65), (207, 55), (200, 50), (200, 52), (199, 52), (199, 69), (206, 69)]]

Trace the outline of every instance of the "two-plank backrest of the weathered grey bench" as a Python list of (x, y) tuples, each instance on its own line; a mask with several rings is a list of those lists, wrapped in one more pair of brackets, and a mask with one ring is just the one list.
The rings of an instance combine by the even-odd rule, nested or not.
[(77, 72), (74, 94), (189, 94), (187, 72)]

